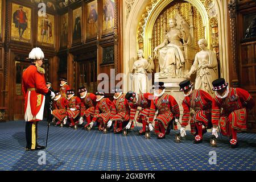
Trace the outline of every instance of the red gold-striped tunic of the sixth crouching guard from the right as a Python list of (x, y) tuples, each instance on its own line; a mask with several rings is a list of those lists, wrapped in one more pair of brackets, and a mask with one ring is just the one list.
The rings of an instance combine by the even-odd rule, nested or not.
[(93, 122), (101, 118), (104, 125), (106, 125), (109, 119), (112, 119), (116, 113), (117, 111), (113, 102), (111, 102), (109, 98), (102, 98), (100, 101), (97, 101)]

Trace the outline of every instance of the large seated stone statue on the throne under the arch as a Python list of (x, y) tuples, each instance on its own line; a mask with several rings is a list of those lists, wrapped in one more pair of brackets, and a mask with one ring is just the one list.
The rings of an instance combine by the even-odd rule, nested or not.
[[(181, 30), (177, 28), (176, 19), (169, 19), (170, 28), (164, 38), (164, 42), (155, 47), (154, 53), (159, 51), (160, 72), (172, 73), (174, 77), (182, 76), (182, 67), (185, 60), (183, 56), (183, 43), (188, 44), (190, 35), (188, 35), (181, 23)], [(183, 43), (181, 43), (181, 40)]]

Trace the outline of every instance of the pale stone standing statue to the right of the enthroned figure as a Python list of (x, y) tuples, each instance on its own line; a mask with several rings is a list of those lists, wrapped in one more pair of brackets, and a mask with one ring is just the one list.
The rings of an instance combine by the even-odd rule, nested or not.
[(218, 62), (216, 53), (207, 49), (207, 40), (200, 39), (200, 52), (196, 53), (195, 61), (186, 75), (187, 78), (196, 73), (195, 89), (202, 89), (214, 96), (212, 81), (218, 78)]

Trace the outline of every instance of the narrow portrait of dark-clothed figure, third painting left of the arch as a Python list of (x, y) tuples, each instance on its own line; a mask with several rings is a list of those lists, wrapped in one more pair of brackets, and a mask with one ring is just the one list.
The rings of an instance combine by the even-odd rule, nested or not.
[(73, 10), (73, 39), (72, 43), (79, 43), (82, 39), (82, 7), (79, 7), (78, 9)]

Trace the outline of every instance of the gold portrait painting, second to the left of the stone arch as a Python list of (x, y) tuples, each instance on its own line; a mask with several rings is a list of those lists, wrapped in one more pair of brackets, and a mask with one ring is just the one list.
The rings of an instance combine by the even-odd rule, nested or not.
[(86, 39), (96, 38), (98, 30), (97, 0), (86, 5)]

